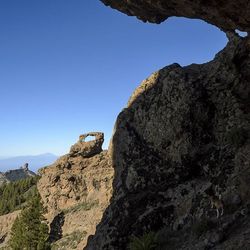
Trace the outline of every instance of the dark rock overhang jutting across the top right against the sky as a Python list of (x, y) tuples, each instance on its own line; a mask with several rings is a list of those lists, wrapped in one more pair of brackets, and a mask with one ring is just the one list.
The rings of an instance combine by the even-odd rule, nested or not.
[(171, 16), (202, 19), (222, 30), (250, 30), (250, 3), (247, 0), (101, 0), (144, 22), (160, 23)]

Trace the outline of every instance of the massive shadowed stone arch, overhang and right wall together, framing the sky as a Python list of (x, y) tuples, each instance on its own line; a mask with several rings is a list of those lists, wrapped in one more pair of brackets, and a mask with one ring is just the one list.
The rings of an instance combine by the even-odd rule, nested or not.
[[(119, 114), (109, 147), (115, 169), (113, 197), (85, 249), (121, 250), (133, 234), (188, 225), (205, 209), (199, 199), (211, 183), (220, 183), (227, 192), (235, 182), (232, 176), (242, 174), (242, 164), (233, 158), (249, 151), (250, 43), (232, 31), (250, 30), (250, 3), (101, 1), (145, 22), (160, 23), (171, 16), (202, 19), (229, 38), (209, 63), (173, 64), (153, 74)], [(235, 129), (245, 140), (233, 145), (228, 141)], [(185, 211), (180, 213), (182, 203)], [(232, 241), (237, 239), (229, 244)], [(196, 243), (185, 249), (206, 247)], [(225, 240), (218, 249), (228, 249), (227, 244)], [(250, 242), (237, 246), (246, 244)]]

